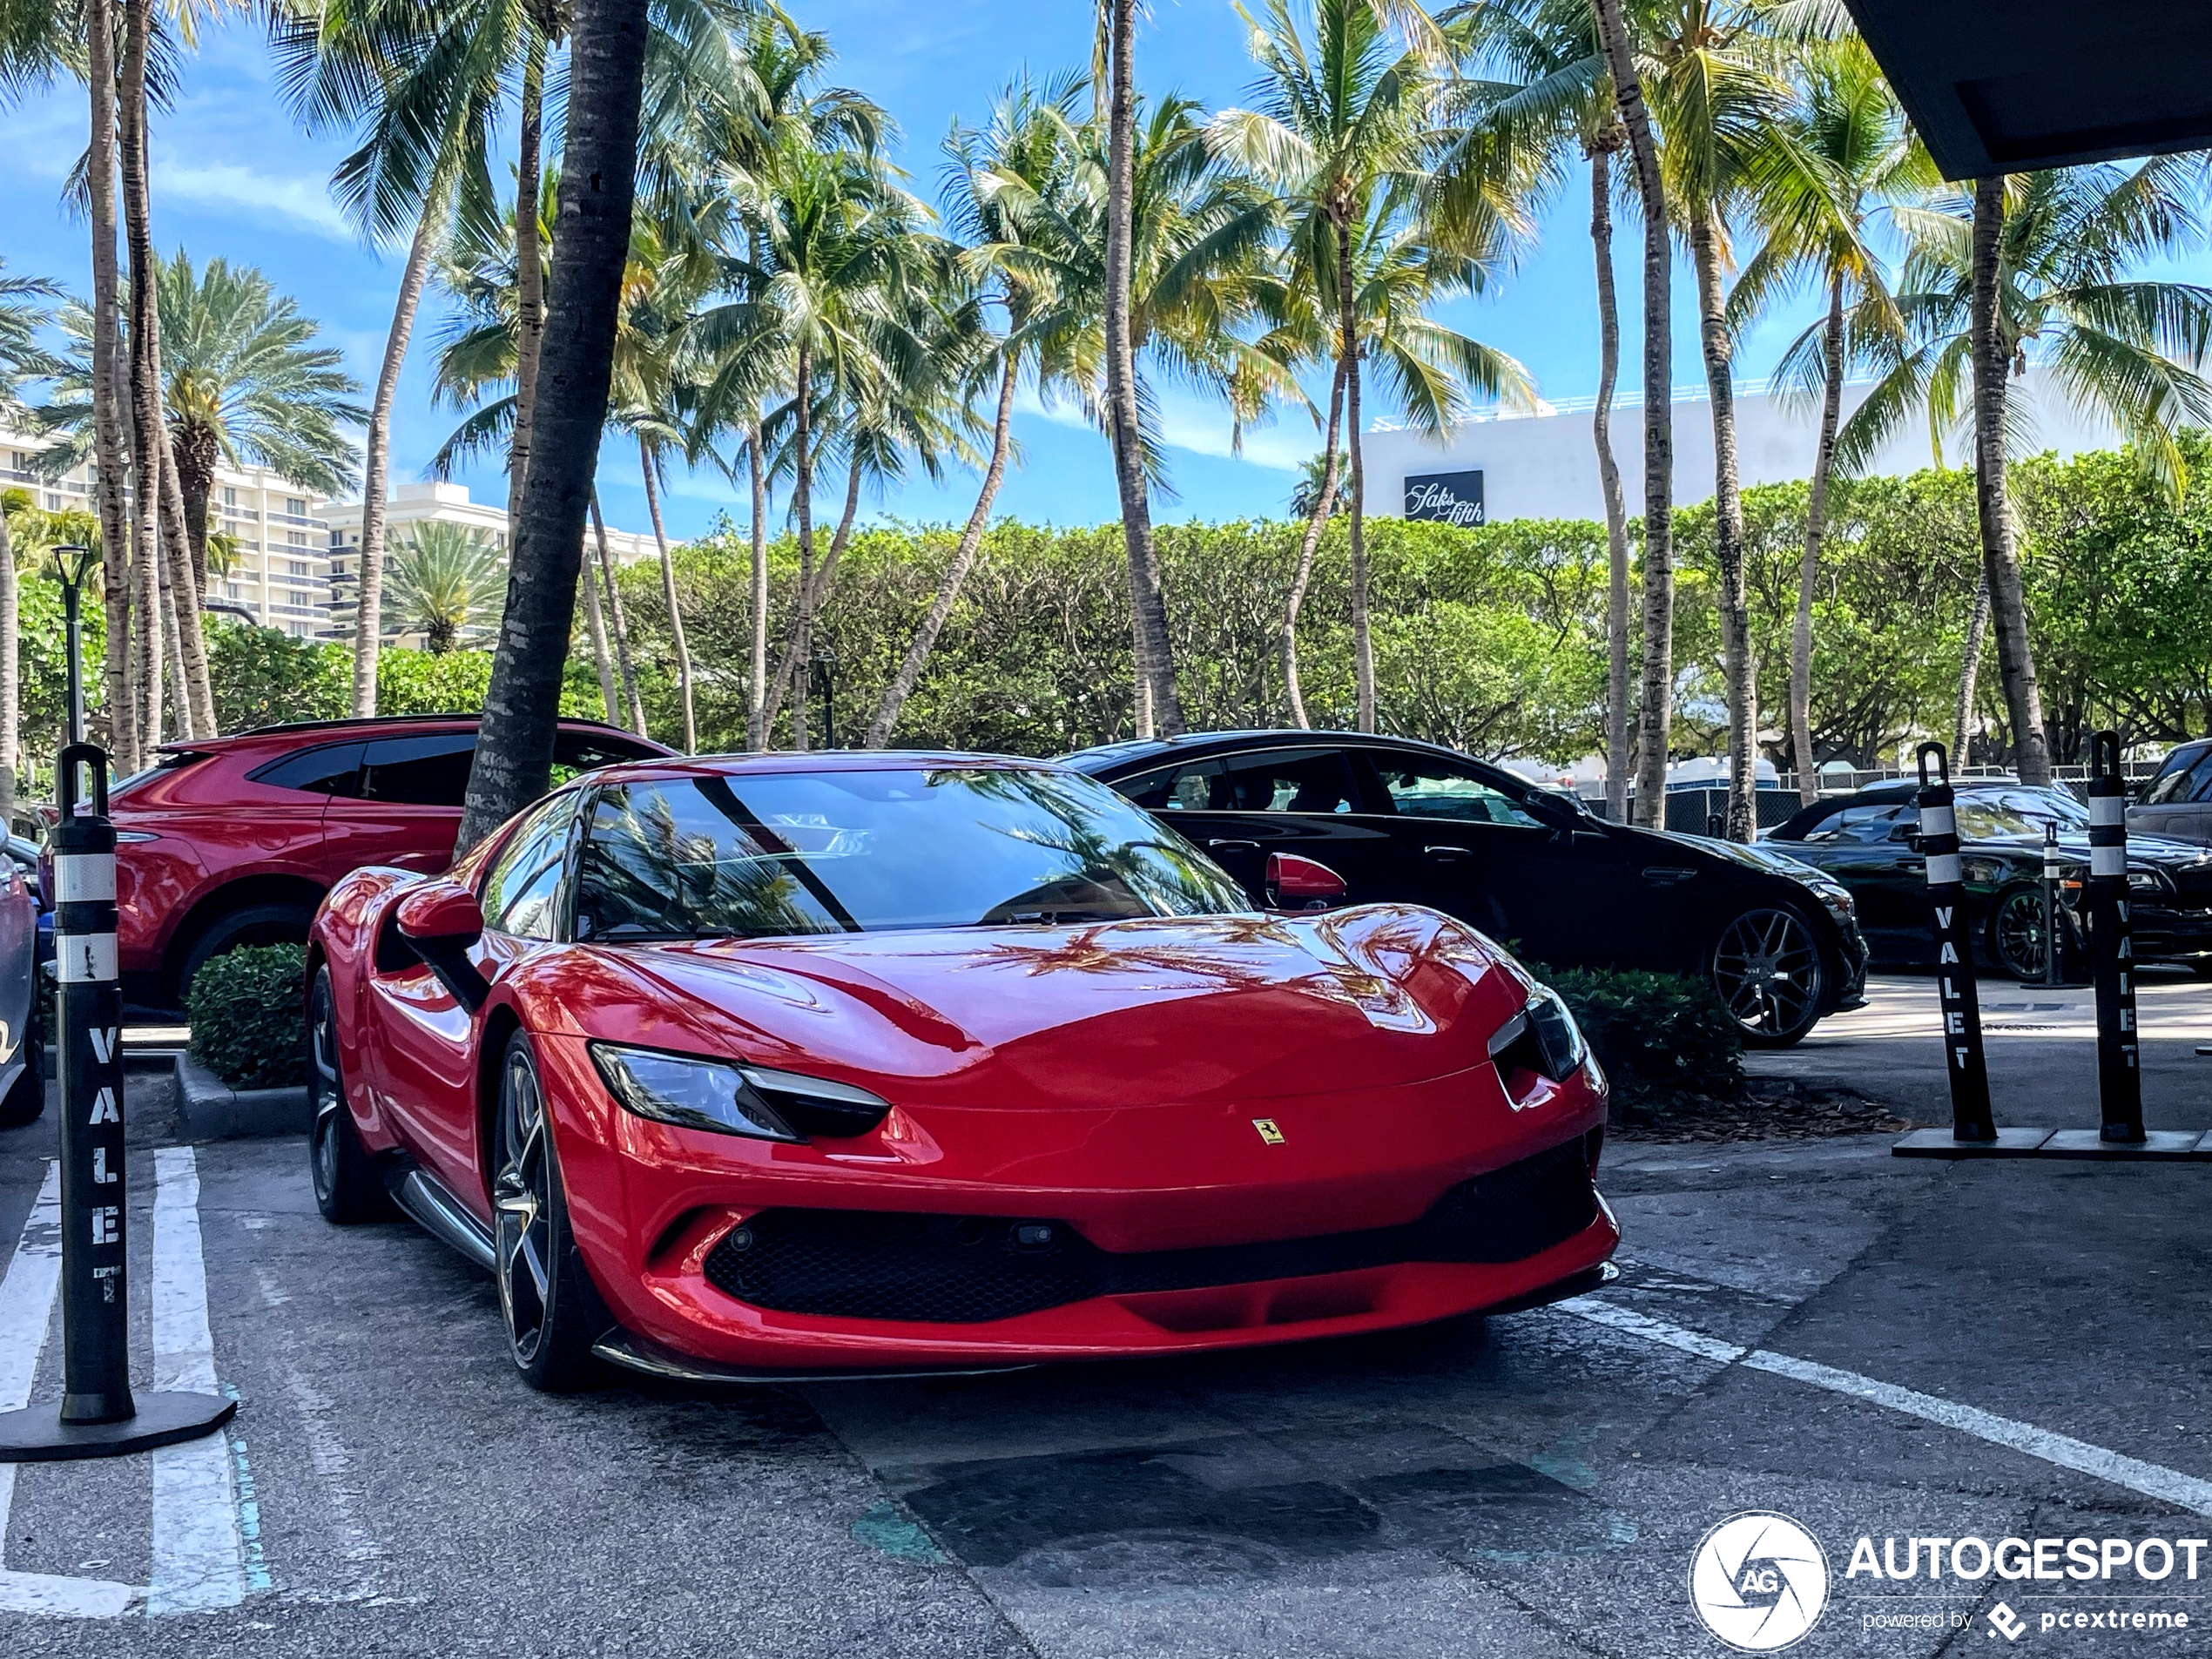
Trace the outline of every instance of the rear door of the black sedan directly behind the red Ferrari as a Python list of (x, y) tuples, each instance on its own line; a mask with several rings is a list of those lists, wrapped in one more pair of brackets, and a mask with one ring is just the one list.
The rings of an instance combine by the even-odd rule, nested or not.
[(1336, 745), (1298, 743), (1181, 761), (1115, 783), (1265, 902), (1267, 854), (1318, 858), (1347, 902), (1396, 898), (1389, 836), (1360, 807), (1360, 772)]

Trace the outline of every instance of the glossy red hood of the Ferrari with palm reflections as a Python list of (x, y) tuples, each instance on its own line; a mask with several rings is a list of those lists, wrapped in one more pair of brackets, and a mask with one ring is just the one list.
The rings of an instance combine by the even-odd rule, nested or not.
[[(1402, 905), (595, 949), (653, 982), (681, 1046), (949, 1106), (1427, 1082), (1484, 1064), (1526, 1000), (1498, 947)], [(655, 1040), (613, 1018), (586, 1035)]]

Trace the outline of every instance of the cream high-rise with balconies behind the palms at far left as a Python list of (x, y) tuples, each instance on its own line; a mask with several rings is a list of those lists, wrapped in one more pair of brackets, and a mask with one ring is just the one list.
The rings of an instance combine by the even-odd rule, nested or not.
[[(46, 511), (97, 511), (91, 462), (42, 478), (35, 458), (51, 438), (0, 429), (0, 484), (29, 489)], [(201, 604), (219, 615), (314, 639), (330, 622), (330, 531), (312, 493), (268, 467), (217, 467), (208, 531), (228, 535), (237, 560), (208, 577)]]

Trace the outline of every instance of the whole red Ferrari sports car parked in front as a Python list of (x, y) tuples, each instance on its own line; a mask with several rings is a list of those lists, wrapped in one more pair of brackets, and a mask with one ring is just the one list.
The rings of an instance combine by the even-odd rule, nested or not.
[[(493, 1270), (538, 1387), (991, 1369), (1595, 1285), (1606, 1082), (1429, 909), (1256, 911), (1079, 772), (591, 772), (307, 958), (316, 1199)], [(1290, 909), (1290, 905), (1307, 905)]]

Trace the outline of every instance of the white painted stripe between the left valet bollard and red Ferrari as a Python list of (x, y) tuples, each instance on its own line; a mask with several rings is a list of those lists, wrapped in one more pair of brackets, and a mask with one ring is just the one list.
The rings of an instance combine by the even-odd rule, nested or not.
[[(153, 1155), (153, 1376), (157, 1389), (215, 1394), (208, 1265), (199, 1248), (199, 1164), (190, 1146)], [(246, 1599), (230, 1436), (153, 1453), (153, 1577), (146, 1613), (197, 1613)]]

